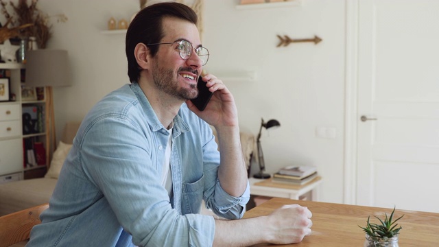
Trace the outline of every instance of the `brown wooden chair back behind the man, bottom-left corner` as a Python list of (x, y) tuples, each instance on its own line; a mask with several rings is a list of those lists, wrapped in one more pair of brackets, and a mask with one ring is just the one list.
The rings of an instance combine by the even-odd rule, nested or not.
[(0, 247), (11, 246), (30, 237), (32, 227), (40, 224), (40, 213), (49, 207), (42, 204), (0, 217)]

